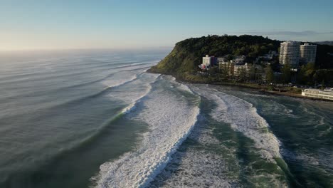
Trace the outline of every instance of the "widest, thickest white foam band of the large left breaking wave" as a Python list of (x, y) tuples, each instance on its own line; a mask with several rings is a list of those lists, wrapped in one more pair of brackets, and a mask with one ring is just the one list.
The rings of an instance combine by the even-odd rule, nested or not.
[(100, 174), (93, 178), (97, 187), (146, 187), (194, 127), (199, 108), (170, 91), (179, 88), (155, 87), (137, 103), (139, 110), (127, 115), (146, 122), (150, 131), (144, 133), (136, 151), (101, 165)]

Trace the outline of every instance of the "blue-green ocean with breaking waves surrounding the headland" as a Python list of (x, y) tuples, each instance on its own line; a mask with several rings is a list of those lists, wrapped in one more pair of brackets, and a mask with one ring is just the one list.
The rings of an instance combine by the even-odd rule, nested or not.
[(0, 53), (0, 187), (333, 187), (333, 103), (146, 72), (169, 51)]

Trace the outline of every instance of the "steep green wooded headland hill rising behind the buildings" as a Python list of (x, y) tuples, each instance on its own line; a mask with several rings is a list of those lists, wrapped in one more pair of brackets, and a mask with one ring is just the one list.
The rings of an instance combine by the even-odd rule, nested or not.
[[(176, 78), (190, 76), (197, 71), (202, 63), (202, 57), (210, 56), (245, 55), (249, 61), (262, 56), (269, 51), (278, 51), (280, 42), (263, 36), (203, 36), (201, 38), (189, 38), (176, 43), (174, 49), (157, 66), (149, 69), (152, 73), (174, 75)], [(327, 53), (333, 53), (333, 46), (318, 45), (317, 66), (330, 68)], [(189, 80), (189, 79), (185, 79)]]

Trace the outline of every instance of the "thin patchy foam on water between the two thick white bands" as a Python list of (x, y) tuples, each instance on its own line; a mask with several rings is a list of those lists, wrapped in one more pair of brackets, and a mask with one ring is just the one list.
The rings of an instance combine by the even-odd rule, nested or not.
[[(240, 165), (237, 147), (230, 147), (229, 144), (236, 140), (218, 140), (213, 133), (215, 126), (207, 125), (203, 115), (199, 116), (199, 123), (189, 136), (195, 144), (192, 145), (191, 142), (189, 145), (181, 145), (149, 188), (243, 187), (243, 173), (249, 173), (246, 179), (255, 184), (255, 187), (287, 187), (287, 182), (281, 180), (280, 174), (251, 169), (251, 164), (245, 167)], [(250, 184), (246, 186), (249, 187)]]

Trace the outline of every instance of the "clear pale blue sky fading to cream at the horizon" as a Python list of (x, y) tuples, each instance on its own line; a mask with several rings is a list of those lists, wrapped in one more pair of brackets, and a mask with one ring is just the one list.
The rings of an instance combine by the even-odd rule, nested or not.
[(191, 37), (333, 41), (332, 0), (0, 0), (0, 51), (164, 48)]

